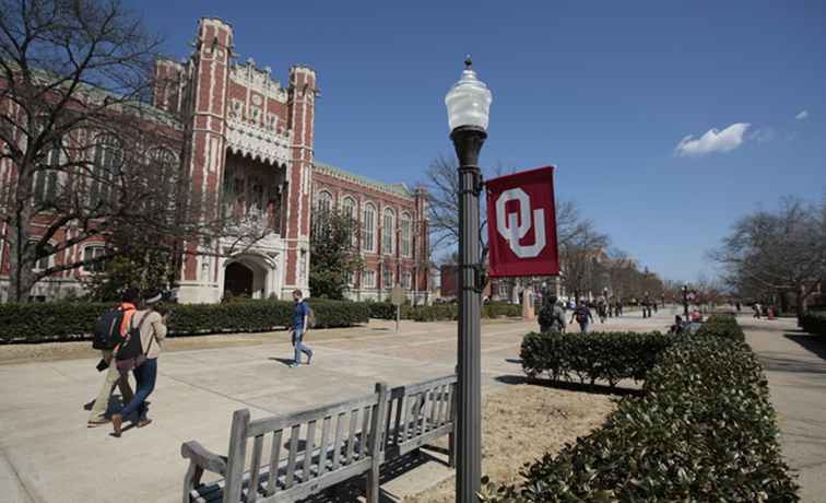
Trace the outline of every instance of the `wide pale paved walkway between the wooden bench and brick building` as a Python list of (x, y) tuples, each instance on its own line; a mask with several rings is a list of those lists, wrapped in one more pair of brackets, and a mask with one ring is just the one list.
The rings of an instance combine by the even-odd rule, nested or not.
[[(604, 327), (666, 325), (661, 311), (652, 319), (635, 313)], [(109, 436), (105, 426), (85, 428), (83, 403), (102, 381), (96, 360), (0, 366), (0, 500), (179, 501), (186, 471), (180, 444), (196, 438), (225, 453), (237, 409), (249, 408), (252, 418), (287, 413), (370, 393), (377, 381), (392, 386), (453, 371), (456, 324), (403, 323), (400, 334), (392, 326), (374, 320), (353, 329), (356, 338), (315, 343), (310, 338), (316, 356), (311, 366), (299, 369), (284, 364), (292, 358), (284, 342), (162, 354), (151, 397), (154, 423), (121, 438)], [(521, 321), (483, 324), (485, 390), (506, 386), (497, 377), (522, 374), (519, 344), (535, 328)]]

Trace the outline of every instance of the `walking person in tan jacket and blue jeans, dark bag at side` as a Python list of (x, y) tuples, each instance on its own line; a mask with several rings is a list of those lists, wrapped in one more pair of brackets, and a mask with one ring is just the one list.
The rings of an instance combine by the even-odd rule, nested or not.
[(157, 378), (157, 356), (163, 350), (163, 341), (166, 338), (166, 324), (169, 314), (161, 314), (157, 306), (163, 300), (161, 292), (151, 292), (143, 301), (145, 308), (134, 313), (129, 320), (127, 339), (116, 351), (116, 363), (122, 377), (129, 371), (134, 374), (134, 397), (123, 407), (120, 412), (111, 416), (111, 425), (115, 436), (122, 433), (123, 419), (129, 419), (133, 413), (138, 414), (137, 425), (143, 428), (152, 423), (148, 418), (146, 398), (155, 389)]

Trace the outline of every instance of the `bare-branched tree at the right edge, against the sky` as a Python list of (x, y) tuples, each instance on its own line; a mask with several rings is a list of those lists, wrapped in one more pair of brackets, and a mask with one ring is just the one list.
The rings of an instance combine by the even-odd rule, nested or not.
[(791, 294), (802, 315), (806, 299), (826, 278), (826, 204), (784, 198), (775, 211), (740, 219), (709, 255), (725, 268), (730, 285)]

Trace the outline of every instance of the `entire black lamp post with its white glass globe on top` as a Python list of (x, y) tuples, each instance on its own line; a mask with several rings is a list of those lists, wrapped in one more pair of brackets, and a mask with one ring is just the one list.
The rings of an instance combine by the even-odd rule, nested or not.
[(475, 503), (482, 480), (482, 369), (479, 284), (479, 152), (487, 138), (491, 91), (464, 60), (462, 77), (445, 96), (450, 139), (459, 157), (459, 344), (456, 501)]

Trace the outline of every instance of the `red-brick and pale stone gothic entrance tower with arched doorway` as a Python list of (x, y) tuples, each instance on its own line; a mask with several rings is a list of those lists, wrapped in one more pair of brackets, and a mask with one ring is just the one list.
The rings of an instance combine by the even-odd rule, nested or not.
[(182, 165), (192, 196), (214, 202), (210, 217), (269, 233), (243, 247), (233, 239), (187, 243), (179, 300), (308, 291), (316, 73), (294, 66), (283, 87), (251, 58), (235, 62), (233, 28), (217, 19), (200, 20), (193, 46), (185, 63), (157, 62), (155, 106), (184, 124)]

